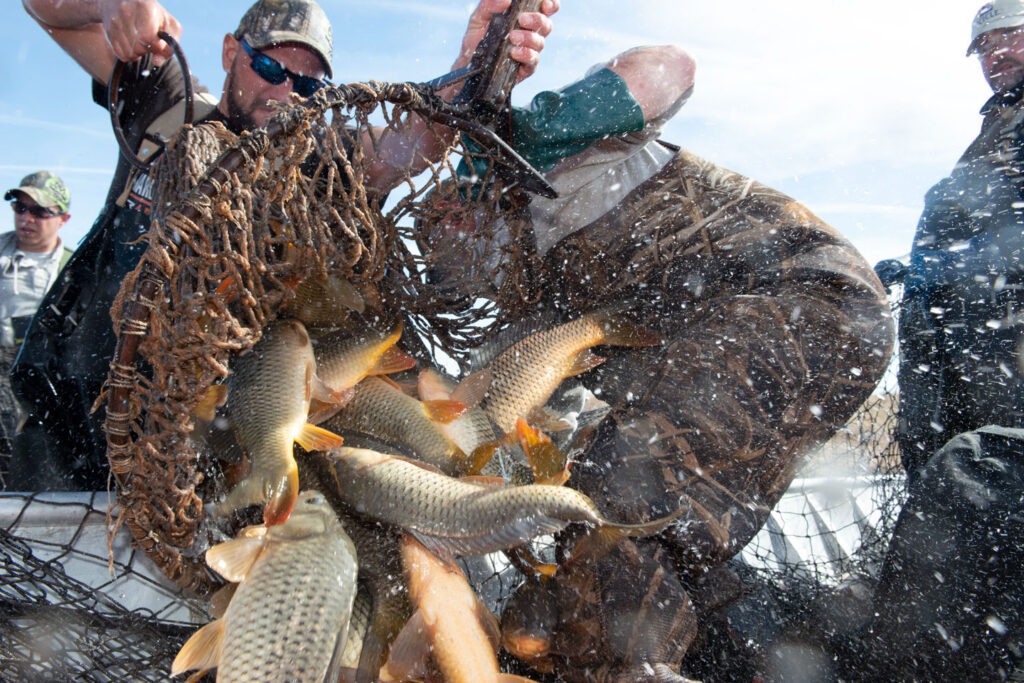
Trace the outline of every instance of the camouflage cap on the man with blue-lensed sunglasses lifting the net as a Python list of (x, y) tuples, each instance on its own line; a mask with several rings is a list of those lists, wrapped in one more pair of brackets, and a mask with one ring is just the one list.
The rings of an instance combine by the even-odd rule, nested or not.
[(242, 17), (234, 37), (245, 38), (256, 49), (281, 43), (302, 43), (319, 55), (328, 78), (334, 76), (331, 22), (313, 0), (259, 0)]

